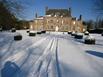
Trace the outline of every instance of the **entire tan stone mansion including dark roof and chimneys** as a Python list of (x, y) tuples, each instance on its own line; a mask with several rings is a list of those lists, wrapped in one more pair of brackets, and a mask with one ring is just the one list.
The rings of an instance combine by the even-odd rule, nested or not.
[(77, 20), (71, 16), (71, 9), (45, 9), (45, 16), (35, 14), (35, 19), (30, 22), (32, 30), (46, 31), (76, 31), (83, 32), (82, 15)]

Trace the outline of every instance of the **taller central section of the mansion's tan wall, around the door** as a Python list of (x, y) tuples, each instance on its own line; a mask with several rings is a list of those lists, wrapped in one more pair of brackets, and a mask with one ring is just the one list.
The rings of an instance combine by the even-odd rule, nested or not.
[(59, 31), (68, 31), (70, 20), (69, 17), (45, 17), (45, 29), (55, 31), (55, 28), (58, 27)]

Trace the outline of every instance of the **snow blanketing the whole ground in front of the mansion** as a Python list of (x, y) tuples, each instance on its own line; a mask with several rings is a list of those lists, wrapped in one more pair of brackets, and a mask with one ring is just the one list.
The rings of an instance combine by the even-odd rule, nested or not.
[[(15, 34), (23, 39), (14, 41)], [(103, 37), (90, 36), (95, 45), (84, 44), (86, 35), (74, 39), (67, 32), (35, 37), (29, 37), (26, 30), (0, 32), (0, 77), (102, 77)]]

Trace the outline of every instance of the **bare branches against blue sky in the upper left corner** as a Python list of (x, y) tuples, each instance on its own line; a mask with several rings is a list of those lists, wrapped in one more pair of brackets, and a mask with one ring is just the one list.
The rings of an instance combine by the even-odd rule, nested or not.
[(6, 9), (11, 14), (13, 14), (17, 17), (22, 16), (24, 6), (22, 6), (22, 4), (19, 1), (17, 1), (17, 0), (0, 0), (0, 2), (4, 4)]

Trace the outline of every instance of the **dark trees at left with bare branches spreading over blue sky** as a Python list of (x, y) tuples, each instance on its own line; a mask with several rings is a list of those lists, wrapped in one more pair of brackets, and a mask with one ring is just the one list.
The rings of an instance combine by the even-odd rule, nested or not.
[(4, 30), (13, 27), (17, 29), (28, 28), (28, 21), (19, 20), (23, 6), (14, 0), (0, 0), (0, 27)]

